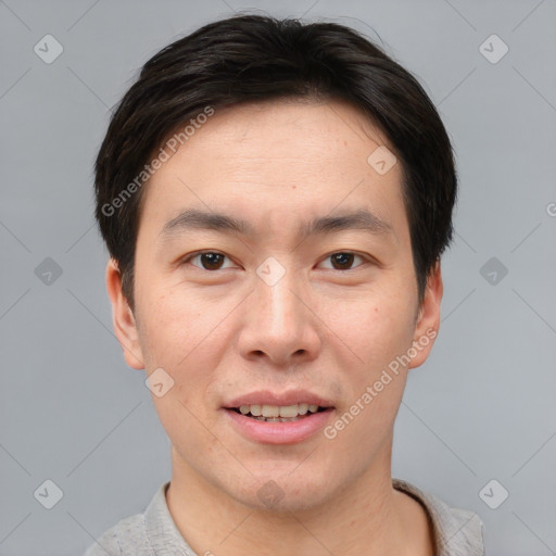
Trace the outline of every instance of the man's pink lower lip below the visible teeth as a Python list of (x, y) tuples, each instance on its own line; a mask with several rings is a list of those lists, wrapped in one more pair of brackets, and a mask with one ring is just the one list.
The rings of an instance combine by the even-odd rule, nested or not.
[(313, 413), (290, 422), (258, 421), (233, 409), (225, 409), (233, 427), (244, 437), (266, 444), (295, 444), (303, 442), (325, 427), (333, 407)]

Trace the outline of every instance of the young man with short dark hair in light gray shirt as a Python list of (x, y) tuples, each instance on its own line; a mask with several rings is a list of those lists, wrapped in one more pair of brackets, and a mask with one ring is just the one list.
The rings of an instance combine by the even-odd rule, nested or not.
[(391, 476), (456, 197), (414, 77), (340, 25), (215, 22), (144, 65), (96, 170), (173, 475), (87, 556), (483, 554), (475, 514)]

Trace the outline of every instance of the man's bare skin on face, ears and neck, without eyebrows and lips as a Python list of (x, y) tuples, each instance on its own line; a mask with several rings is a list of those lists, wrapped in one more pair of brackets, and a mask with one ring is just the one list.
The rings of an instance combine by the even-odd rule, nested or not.
[[(255, 442), (223, 409), (252, 391), (305, 389), (331, 401), (333, 424), (389, 363), (439, 329), (440, 266), (419, 306), (403, 170), (396, 163), (377, 173), (367, 157), (378, 146), (389, 146), (384, 136), (336, 101), (216, 111), (146, 186), (135, 314), (109, 262), (127, 364), (148, 375), (162, 367), (174, 380), (153, 395), (173, 446), (167, 502), (200, 555), (433, 554), (426, 513), (391, 484), (406, 375), (432, 339), (331, 440), (319, 431), (293, 444)], [(191, 229), (161, 239), (186, 208), (243, 218), (256, 233)], [(357, 208), (391, 231), (296, 235), (302, 222)], [(200, 250), (226, 256), (213, 266), (184, 262)], [(334, 266), (330, 255), (345, 251), (361, 256)], [(270, 256), (286, 273), (274, 286), (256, 274)], [(282, 495), (271, 509), (257, 496), (268, 481)]]

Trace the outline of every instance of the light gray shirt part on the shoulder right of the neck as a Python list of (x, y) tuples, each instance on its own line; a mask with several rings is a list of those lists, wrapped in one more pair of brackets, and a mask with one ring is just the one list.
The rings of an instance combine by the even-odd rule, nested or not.
[(483, 556), (484, 545), (479, 516), (468, 509), (453, 508), (433, 494), (424, 492), (400, 479), (392, 480), (393, 488), (401, 490), (427, 510), (433, 528), (439, 556)]

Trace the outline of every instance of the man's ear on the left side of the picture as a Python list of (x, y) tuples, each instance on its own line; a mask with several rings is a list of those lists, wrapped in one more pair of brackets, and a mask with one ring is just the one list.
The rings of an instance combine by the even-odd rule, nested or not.
[(126, 363), (134, 369), (143, 369), (144, 359), (135, 316), (122, 293), (122, 275), (114, 258), (110, 258), (106, 265), (106, 290), (112, 303), (112, 326), (119, 345), (124, 350)]

